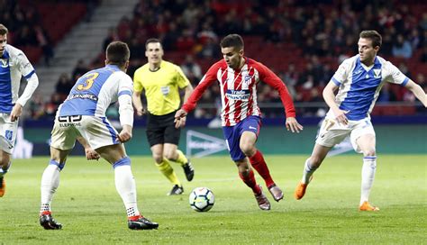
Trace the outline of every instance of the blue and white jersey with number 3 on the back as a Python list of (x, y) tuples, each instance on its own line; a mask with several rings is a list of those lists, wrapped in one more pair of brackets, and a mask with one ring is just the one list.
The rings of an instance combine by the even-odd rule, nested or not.
[[(67, 100), (59, 105), (58, 115), (93, 115), (104, 117), (110, 104), (121, 95), (132, 97), (132, 78), (114, 65), (87, 72), (78, 78)], [(122, 106), (122, 104), (121, 104)], [(132, 108), (132, 103), (131, 103)]]

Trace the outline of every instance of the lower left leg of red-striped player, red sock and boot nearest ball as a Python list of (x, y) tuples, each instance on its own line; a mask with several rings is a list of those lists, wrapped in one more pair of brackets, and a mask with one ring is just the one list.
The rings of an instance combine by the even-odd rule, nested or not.
[(246, 186), (249, 186), (252, 189), (259, 208), (261, 210), (270, 210), (271, 205), (268, 202), (266, 195), (262, 192), (261, 186), (257, 185), (255, 175), (248, 164), (248, 159), (245, 157), (244, 159), (235, 160), (234, 162), (239, 170), (241, 180), (246, 184)]

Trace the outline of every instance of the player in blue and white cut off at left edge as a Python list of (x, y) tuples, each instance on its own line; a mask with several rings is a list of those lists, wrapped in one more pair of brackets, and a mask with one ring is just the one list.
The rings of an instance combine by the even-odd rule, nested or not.
[[(7, 44), (8, 30), (0, 23), (0, 197), (5, 195), (5, 174), (11, 166), (11, 155), (23, 106), (39, 86), (39, 78), (22, 50)], [(27, 86), (18, 95), (21, 78)]]

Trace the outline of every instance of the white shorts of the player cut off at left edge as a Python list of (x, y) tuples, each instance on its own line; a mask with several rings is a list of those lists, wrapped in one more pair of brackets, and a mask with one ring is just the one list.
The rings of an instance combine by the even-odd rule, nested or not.
[(12, 154), (14, 151), (14, 141), (18, 132), (18, 120), (11, 121), (11, 114), (0, 113), (0, 150)]

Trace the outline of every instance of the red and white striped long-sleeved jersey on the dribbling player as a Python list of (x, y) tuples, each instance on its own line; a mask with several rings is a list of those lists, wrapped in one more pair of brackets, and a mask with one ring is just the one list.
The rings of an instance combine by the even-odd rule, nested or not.
[(257, 85), (262, 81), (278, 91), (286, 117), (295, 117), (294, 103), (283, 81), (263, 64), (253, 59), (244, 59), (245, 64), (241, 69), (229, 68), (224, 59), (213, 64), (182, 109), (187, 113), (194, 110), (204, 90), (218, 81), (223, 104), (222, 125), (233, 126), (250, 115), (261, 115), (257, 103)]

